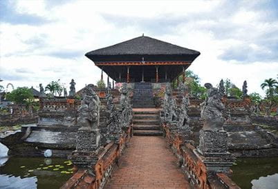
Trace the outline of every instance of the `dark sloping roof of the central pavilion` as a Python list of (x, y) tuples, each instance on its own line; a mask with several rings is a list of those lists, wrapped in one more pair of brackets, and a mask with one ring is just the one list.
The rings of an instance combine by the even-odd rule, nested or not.
[[(193, 61), (200, 52), (147, 36), (87, 52), (92, 61)], [(124, 56), (123, 56), (124, 55)]]

